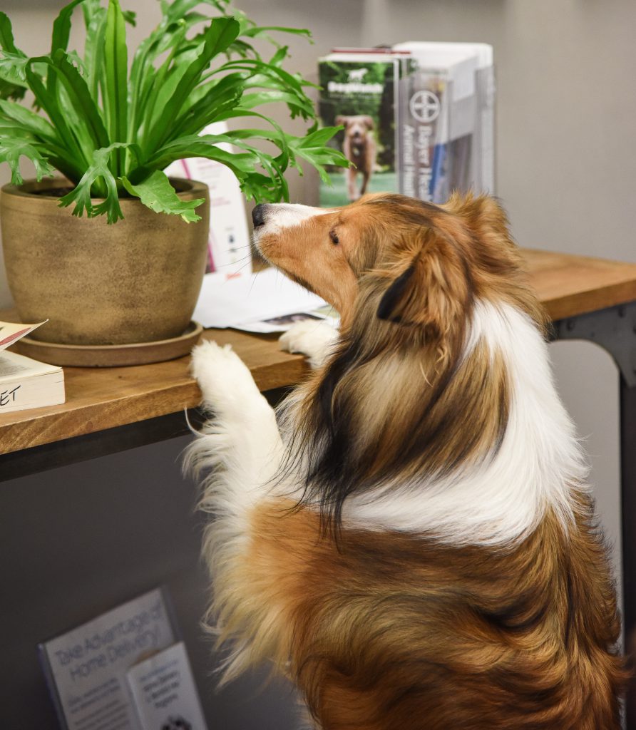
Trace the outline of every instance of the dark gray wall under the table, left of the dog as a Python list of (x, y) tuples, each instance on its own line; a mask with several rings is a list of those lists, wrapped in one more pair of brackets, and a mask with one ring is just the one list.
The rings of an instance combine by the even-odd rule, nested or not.
[(266, 672), (216, 691), (204, 638), (207, 571), (188, 438), (0, 482), (0, 707), (11, 730), (55, 730), (37, 644), (166, 585), (210, 730), (297, 726), (291, 687)]

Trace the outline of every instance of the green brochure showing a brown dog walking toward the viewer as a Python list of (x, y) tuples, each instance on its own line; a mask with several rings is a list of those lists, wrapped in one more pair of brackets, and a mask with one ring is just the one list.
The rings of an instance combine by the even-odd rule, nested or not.
[(321, 58), (318, 112), (323, 124), (342, 126), (329, 144), (351, 162), (329, 169), (321, 182), (323, 207), (346, 205), (364, 193), (398, 190), (395, 94), (399, 56), (391, 53), (332, 53)]

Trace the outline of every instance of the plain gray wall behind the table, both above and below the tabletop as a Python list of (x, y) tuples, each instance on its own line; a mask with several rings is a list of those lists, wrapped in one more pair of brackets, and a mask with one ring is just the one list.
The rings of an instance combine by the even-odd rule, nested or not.
[[(53, 1), (31, 8), (3, 0), (18, 45), (46, 47)], [(245, 0), (256, 20), (312, 28), (315, 45), (294, 40), (291, 67), (315, 74), (331, 45), (398, 40), (465, 40), (494, 45), (498, 80), (497, 193), (513, 233), (527, 247), (635, 261), (632, 196), (636, 173), (636, 3), (630, 0)], [(153, 0), (125, 2), (139, 12), (139, 37), (153, 23)], [(44, 43), (44, 46), (41, 44)], [(294, 128), (299, 129), (299, 125)], [(0, 182), (7, 180), (0, 170)], [(315, 178), (293, 180), (293, 199), (314, 202)], [(1, 267), (0, 267), (1, 270)], [(0, 274), (0, 304), (10, 301)], [(613, 542), (618, 527), (618, 381), (601, 350), (557, 344), (559, 388), (591, 455), (595, 493)], [(207, 684), (213, 664), (197, 628), (205, 580), (197, 562), (199, 527), (192, 487), (172, 466), (181, 443), (147, 447), (0, 485), (10, 538), (0, 563), (2, 645), (20, 666), (10, 672), (12, 707), (53, 727), (34, 664), (34, 643), (166, 580), (175, 593), (188, 646)], [(74, 534), (62, 529), (83, 525)], [(178, 523), (178, 524), (175, 524)], [(95, 529), (86, 529), (86, 524)], [(139, 529), (135, 529), (136, 525)], [(167, 541), (167, 542), (166, 542)], [(9, 547), (11, 548), (9, 550)], [(18, 558), (19, 556), (19, 558)], [(113, 559), (115, 556), (115, 559)], [(79, 564), (78, 564), (79, 561)], [(104, 566), (95, 572), (93, 561)], [(97, 564), (96, 563), (96, 564)], [(5, 576), (6, 574), (6, 576)], [(7, 621), (5, 621), (7, 613)], [(9, 666), (4, 663), (3, 669)], [(248, 682), (226, 694), (204, 691), (211, 726), (295, 725), (291, 697)], [(8, 688), (8, 689), (7, 689)], [(232, 694), (234, 693), (234, 694)], [(1, 698), (9, 702), (7, 698)], [(4, 709), (4, 702), (3, 709)], [(276, 713), (283, 715), (277, 718)], [(223, 718), (222, 721), (220, 718)]]

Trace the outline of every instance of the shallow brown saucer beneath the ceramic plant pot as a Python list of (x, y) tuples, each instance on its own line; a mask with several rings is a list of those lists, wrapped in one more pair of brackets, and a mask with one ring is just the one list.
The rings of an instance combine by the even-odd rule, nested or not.
[(58, 345), (23, 337), (15, 345), (21, 355), (51, 365), (74, 367), (122, 367), (146, 365), (188, 355), (201, 336), (203, 327), (191, 322), (179, 337), (130, 345)]

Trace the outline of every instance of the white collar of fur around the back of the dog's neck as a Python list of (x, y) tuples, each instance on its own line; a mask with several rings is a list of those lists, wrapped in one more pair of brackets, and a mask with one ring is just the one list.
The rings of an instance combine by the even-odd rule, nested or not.
[(572, 489), (587, 466), (556, 393), (548, 347), (524, 313), (507, 304), (475, 307), (467, 349), (483, 340), (502, 354), (511, 392), (505, 436), (492, 459), (428, 483), (352, 496), (345, 524), (434, 534), (453, 545), (510, 545), (551, 508), (573, 516)]

